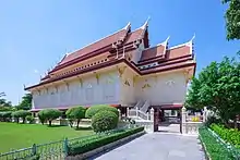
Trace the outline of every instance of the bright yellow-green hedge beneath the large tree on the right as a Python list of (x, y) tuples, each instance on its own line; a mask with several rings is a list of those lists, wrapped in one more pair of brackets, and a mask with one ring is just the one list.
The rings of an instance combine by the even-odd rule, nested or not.
[(224, 140), (240, 149), (240, 131), (237, 128), (226, 128), (224, 125), (212, 124), (211, 128)]

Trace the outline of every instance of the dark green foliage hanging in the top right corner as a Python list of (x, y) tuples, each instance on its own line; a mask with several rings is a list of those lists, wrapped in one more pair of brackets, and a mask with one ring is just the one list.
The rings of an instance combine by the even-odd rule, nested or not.
[(240, 0), (223, 0), (229, 8), (225, 14), (227, 39), (240, 39)]

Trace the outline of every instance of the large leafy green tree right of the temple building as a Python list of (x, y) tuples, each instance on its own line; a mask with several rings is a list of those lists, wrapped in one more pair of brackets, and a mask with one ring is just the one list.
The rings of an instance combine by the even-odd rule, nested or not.
[(229, 120), (240, 114), (240, 62), (227, 57), (219, 63), (212, 62), (191, 83), (187, 104), (208, 107), (228, 126)]

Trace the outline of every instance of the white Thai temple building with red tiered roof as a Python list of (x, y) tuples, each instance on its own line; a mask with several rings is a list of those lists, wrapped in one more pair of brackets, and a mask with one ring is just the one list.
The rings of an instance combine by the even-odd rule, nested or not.
[[(32, 111), (74, 106), (181, 108), (194, 75), (193, 39), (169, 46), (169, 37), (149, 46), (148, 22), (125, 27), (65, 54), (40, 82), (24, 89), (33, 95)], [(157, 35), (155, 35), (157, 36)]]

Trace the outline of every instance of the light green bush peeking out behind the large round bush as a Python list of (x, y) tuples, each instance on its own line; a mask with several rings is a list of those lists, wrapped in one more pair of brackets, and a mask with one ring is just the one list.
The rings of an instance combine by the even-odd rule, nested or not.
[(117, 108), (110, 107), (108, 104), (98, 104), (98, 106), (92, 106), (91, 108), (88, 108), (86, 110), (86, 118), (92, 118), (93, 115), (95, 115), (97, 112), (99, 111), (112, 111), (115, 112), (118, 116), (119, 116), (119, 112)]

